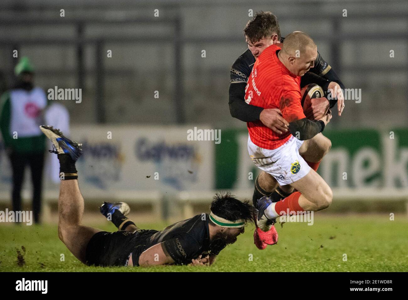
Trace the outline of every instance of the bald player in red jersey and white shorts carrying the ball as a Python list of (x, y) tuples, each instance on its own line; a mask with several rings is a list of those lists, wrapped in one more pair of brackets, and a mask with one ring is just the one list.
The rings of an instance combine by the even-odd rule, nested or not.
[[(328, 110), (320, 120), (309, 120), (301, 104), (300, 79), (313, 67), (316, 57), (317, 46), (313, 40), (295, 31), (285, 38), (282, 48), (272, 45), (259, 55), (246, 86), (246, 103), (279, 108), (290, 129), (278, 134), (262, 121), (248, 122), (249, 155), (279, 185), (290, 185), (297, 190), (278, 202), (267, 196), (255, 200), (259, 211), (257, 223), (262, 231), (268, 231), (278, 216), (323, 210), (333, 199), (327, 183), (299, 154), (299, 139), (313, 138), (331, 119)], [(299, 139), (290, 132), (298, 132)]]

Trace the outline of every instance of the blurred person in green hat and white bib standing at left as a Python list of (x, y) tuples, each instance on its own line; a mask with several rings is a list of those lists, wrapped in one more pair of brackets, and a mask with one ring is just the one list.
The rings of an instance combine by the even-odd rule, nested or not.
[(13, 169), (12, 203), (21, 211), (21, 188), (26, 165), (31, 169), (33, 183), (34, 222), (40, 222), (42, 170), (45, 139), (39, 126), (47, 106), (44, 90), (34, 87), (34, 68), (27, 57), (16, 65), (16, 86), (0, 98), (0, 131)]

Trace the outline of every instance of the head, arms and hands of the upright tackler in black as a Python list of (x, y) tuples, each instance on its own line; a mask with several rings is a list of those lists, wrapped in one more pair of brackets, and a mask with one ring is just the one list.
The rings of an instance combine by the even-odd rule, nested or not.
[[(271, 12), (259, 12), (246, 24), (244, 29), (246, 43), (248, 50), (240, 55), (231, 67), (230, 71), (230, 87), (229, 87), (229, 107), (230, 113), (233, 117), (245, 121), (254, 122), (261, 120), (262, 123), (270, 127), (277, 133), (282, 133), (282, 130), (287, 129), (282, 122), (284, 119), (275, 118), (275, 115), (282, 115), (276, 113), (275, 109), (263, 109), (257, 106), (251, 106), (244, 101), (245, 86), (251, 74), (255, 60), (262, 53), (264, 49), (272, 44), (282, 43), (284, 38), (280, 35), (279, 24), (275, 15)], [(310, 68), (304, 76), (302, 76), (301, 87), (310, 83), (316, 83), (321, 86), (326, 95), (329, 90), (333, 92), (344, 90), (344, 84), (341, 82), (337, 73), (331, 66), (325, 62), (317, 53), (317, 58), (313, 68)], [(319, 98), (315, 105), (312, 105), (313, 111), (308, 112), (306, 117), (315, 117), (325, 115), (327, 108), (332, 108), (337, 103), (337, 94), (333, 95), (333, 100)], [(342, 96), (342, 95), (339, 95)], [(344, 99), (340, 99), (338, 105), (338, 112), (344, 108)], [(272, 119), (268, 120), (268, 119)], [(275, 121), (276, 120), (276, 121)], [(278, 122), (278, 120), (280, 122)]]

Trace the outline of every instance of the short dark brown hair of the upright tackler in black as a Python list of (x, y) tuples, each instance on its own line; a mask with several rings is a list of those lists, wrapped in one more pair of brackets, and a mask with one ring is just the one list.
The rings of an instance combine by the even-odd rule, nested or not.
[(278, 35), (280, 41), (280, 29), (278, 19), (270, 11), (259, 11), (251, 20), (246, 23), (244, 28), (245, 37), (251, 43), (256, 43), (266, 36), (272, 36), (274, 33)]

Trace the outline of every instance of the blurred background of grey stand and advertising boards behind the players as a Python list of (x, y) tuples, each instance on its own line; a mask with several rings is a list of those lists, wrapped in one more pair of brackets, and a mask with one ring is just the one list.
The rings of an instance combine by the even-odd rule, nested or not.
[[(88, 141), (93, 154), (102, 149), (80, 163), (87, 197), (146, 199), (155, 198), (153, 192), (190, 191), (175, 196), (185, 201), (196, 190), (210, 195), (216, 189), (249, 191), (242, 194), (251, 197), (248, 174), (255, 178), (257, 170), (246, 152), (246, 124), (228, 110), (229, 71), (247, 49), (243, 29), (250, 10), (272, 11), (282, 36), (308, 33), (346, 88), (361, 89), (361, 103), (346, 101), (343, 115), (334, 113), (325, 130), (333, 148), (320, 174), (337, 196), (404, 199), (407, 1), (2, 0), (0, 88), (13, 84), (15, 49), (30, 57), (35, 83), (44, 90), (82, 88), (82, 103), (61, 103), (69, 110), (72, 136)], [(186, 130), (194, 126), (221, 129), (222, 142), (187, 141)], [(159, 144), (167, 145), (162, 156)], [(2, 198), (9, 201), (4, 155), (0, 168)], [(44, 197), (52, 198), (55, 186), (45, 186)]]

